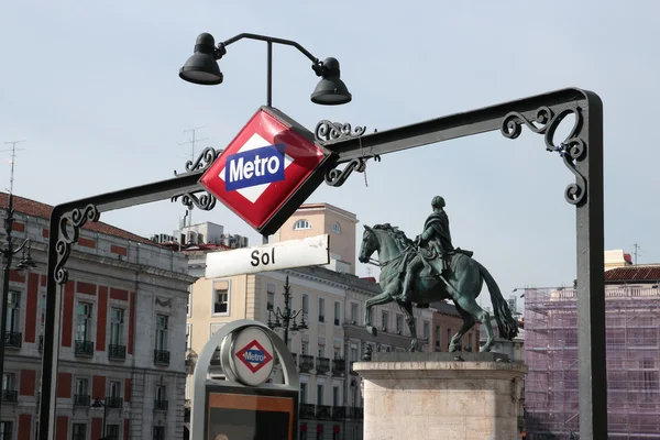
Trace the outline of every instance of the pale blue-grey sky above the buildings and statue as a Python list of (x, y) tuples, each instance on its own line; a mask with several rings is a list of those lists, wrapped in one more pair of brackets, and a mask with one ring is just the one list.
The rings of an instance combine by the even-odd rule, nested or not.
[[(178, 78), (195, 38), (251, 32), (299, 42), (337, 57), (353, 95), (314, 105), (318, 82), (293, 47), (274, 47), (273, 105), (314, 130), (321, 119), (383, 131), (566, 87), (604, 102), (605, 249), (660, 262), (660, 4), (656, 1), (95, 1), (7, 2), (0, 14), (0, 141), (18, 144), (14, 193), (56, 205), (167, 179), (197, 150), (222, 148), (266, 95), (266, 45), (240, 41), (220, 66), (224, 82)], [(566, 124), (570, 123), (565, 122)], [(568, 133), (562, 127), (559, 134)], [(0, 144), (0, 150), (10, 145)], [(10, 155), (0, 153), (0, 186)], [(436, 195), (447, 200), (455, 246), (474, 251), (505, 297), (525, 286), (575, 278), (572, 175), (542, 136), (498, 132), (384, 155), (365, 176), (324, 184), (308, 199), (355, 212), (362, 226), (388, 222), (421, 232)], [(103, 213), (141, 235), (172, 233), (180, 204)], [(226, 231), (260, 237), (218, 204), (193, 212)], [(358, 274), (377, 275), (360, 264)]]

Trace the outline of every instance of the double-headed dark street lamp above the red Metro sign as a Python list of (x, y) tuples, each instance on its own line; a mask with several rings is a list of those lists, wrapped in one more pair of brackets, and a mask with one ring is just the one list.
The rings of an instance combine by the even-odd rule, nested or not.
[(339, 106), (351, 102), (352, 96), (346, 85), (340, 78), (340, 67), (337, 58), (326, 58), (321, 62), (294, 41), (265, 35), (243, 33), (218, 43), (216, 47), (213, 35), (208, 33), (199, 34), (195, 42), (195, 52), (186, 64), (184, 64), (184, 67), (179, 69), (179, 77), (188, 82), (202, 86), (221, 84), (224, 76), (220, 72), (218, 59), (222, 58), (227, 53), (227, 46), (242, 38), (265, 41), (268, 44), (268, 77), (266, 84), (266, 102), (268, 107), (273, 107), (273, 43), (294, 46), (312, 62), (311, 68), (317, 76), (321, 77), (321, 80), (311, 94), (311, 102), (321, 106)]

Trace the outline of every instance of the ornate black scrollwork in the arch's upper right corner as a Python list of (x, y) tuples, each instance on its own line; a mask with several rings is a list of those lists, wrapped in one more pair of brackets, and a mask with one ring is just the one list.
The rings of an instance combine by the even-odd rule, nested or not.
[[(563, 142), (554, 143), (554, 133), (557, 128), (569, 114), (575, 116), (575, 123), (571, 132)], [(502, 120), (501, 131), (505, 138), (516, 139), (522, 131), (522, 124), (537, 134), (543, 134), (546, 150), (549, 152), (558, 152), (563, 158), (564, 165), (575, 176), (575, 183), (569, 184), (564, 190), (564, 198), (571, 205), (579, 205), (584, 200), (586, 195), (586, 179), (578, 170), (575, 163), (584, 158), (586, 144), (580, 138), (582, 130), (582, 109), (568, 108), (554, 114), (548, 107), (540, 107), (536, 111), (532, 120), (527, 119), (517, 111), (512, 111)]]

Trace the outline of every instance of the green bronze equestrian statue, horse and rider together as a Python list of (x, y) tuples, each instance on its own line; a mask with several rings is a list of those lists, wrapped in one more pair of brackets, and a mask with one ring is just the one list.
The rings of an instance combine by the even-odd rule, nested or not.
[(484, 282), (491, 293), (499, 336), (508, 340), (514, 339), (518, 334), (518, 324), (497, 283), (488, 271), (472, 257), (473, 252), (454, 249), (449, 217), (444, 211), (444, 199), (440, 196), (433, 197), (431, 208), (433, 212), (425, 221), (424, 231), (415, 241), (389, 223), (376, 224), (373, 228), (364, 226), (359, 260), (362, 263), (371, 263), (371, 255), (378, 252), (378, 282), (383, 289), (380, 295), (366, 300), (366, 330), (376, 336), (371, 316), (373, 306), (396, 301), (410, 329), (410, 351), (415, 351), (419, 344), (413, 305), (426, 307), (430, 302), (451, 299), (463, 319), (463, 324), (452, 337), (449, 351), (460, 350), (463, 334), (475, 321), (483, 323), (486, 330), (486, 342), (480, 351), (491, 351), (495, 340), (491, 316), (476, 302)]

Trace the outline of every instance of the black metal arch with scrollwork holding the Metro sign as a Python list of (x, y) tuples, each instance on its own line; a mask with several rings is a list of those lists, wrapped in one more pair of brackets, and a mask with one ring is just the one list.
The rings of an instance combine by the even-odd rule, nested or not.
[[(575, 114), (569, 136), (557, 143), (554, 132), (568, 114)], [(576, 207), (578, 318), (580, 435), (582, 439), (607, 437), (607, 387), (605, 371), (605, 298), (603, 262), (603, 106), (597, 95), (564, 89), (520, 100), (451, 114), (383, 132), (321, 121), (316, 129), (319, 145), (331, 152), (326, 182), (341, 186), (353, 170), (363, 172), (370, 158), (451, 139), (496, 131), (516, 139), (527, 127), (542, 134), (546, 148), (557, 152), (575, 176), (564, 197)], [(366, 154), (364, 152), (367, 152)], [(48, 240), (45, 341), (41, 383), (40, 439), (54, 439), (57, 362), (59, 351), (62, 287), (67, 280), (65, 264), (79, 228), (98, 221), (100, 213), (164, 199), (188, 207), (212, 209), (216, 198), (198, 184), (220, 152), (206, 148), (187, 173), (114, 193), (58, 205), (51, 215)], [(343, 169), (338, 166), (345, 164)], [(204, 193), (200, 195), (200, 193)], [(300, 200), (301, 202), (301, 200)], [(69, 234), (68, 229), (74, 232)]]

